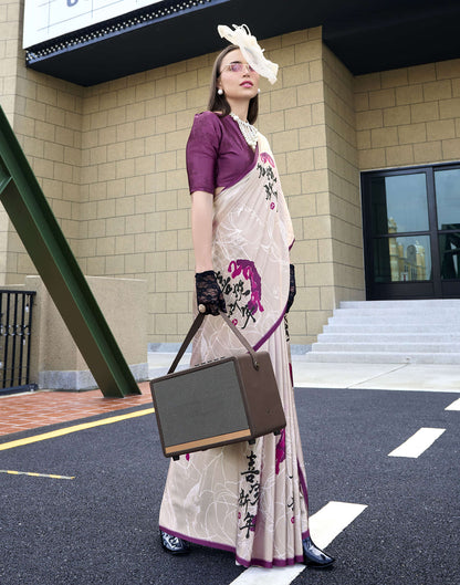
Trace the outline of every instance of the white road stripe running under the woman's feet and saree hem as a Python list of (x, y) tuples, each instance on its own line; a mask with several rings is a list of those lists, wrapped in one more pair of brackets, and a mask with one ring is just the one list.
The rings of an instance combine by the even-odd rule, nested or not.
[[(310, 518), (313, 542), (324, 549), (366, 508), (367, 505), (362, 504), (328, 502)], [(273, 568), (251, 566), (230, 585), (289, 585), (304, 570), (305, 565), (301, 564)]]

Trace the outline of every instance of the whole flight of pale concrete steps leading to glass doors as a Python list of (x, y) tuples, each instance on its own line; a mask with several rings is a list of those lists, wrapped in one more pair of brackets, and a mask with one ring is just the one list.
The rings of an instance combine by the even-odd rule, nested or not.
[(306, 361), (460, 364), (460, 299), (343, 302)]

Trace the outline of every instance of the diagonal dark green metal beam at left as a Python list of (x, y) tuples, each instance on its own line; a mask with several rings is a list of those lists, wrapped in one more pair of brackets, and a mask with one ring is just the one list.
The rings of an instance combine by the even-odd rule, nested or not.
[(103, 395), (140, 394), (1, 106), (0, 200)]

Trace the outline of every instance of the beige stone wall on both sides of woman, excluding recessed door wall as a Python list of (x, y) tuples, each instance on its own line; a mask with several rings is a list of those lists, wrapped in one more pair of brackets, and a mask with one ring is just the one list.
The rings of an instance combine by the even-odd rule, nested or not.
[[(351, 76), (325, 51), (321, 29), (263, 45), (281, 67), (275, 85), (262, 82), (258, 126), (296, 236), (291, 335), (312, 343), (359, 288), (358, 262), (345, 258), (357, 227)], [(148, 341), (179, 341), (194, 285), (185, 145), (206, 108), (215, 55), (83, 88), (27, 70), (15, 50), (14, 130), (83, 272), (146, 280)], [(6, 241), (7, 282), (22, 282), (34, 269), (14, 232)]]

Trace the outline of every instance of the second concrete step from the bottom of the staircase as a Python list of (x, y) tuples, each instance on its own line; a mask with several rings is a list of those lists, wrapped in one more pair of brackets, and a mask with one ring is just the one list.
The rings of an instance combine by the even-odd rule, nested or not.
[(315, 343), (312, 352), (363, 352), (401, 354), (459, 354), (460, 343)]

